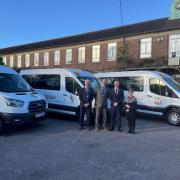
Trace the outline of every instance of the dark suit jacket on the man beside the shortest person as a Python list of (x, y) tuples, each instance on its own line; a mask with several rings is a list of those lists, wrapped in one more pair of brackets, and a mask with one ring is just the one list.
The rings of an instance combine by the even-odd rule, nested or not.
[(110, 92), (110, 101), (111, 101), (111, 108), (114, 108), (114, 103), (117, 102), (119, 108), (122, 108), (123, 101), (124, 101), (124, 92), (122, 89), (118, 89), (118, 93), (115, 93), (115, 88), (111, 89)]

